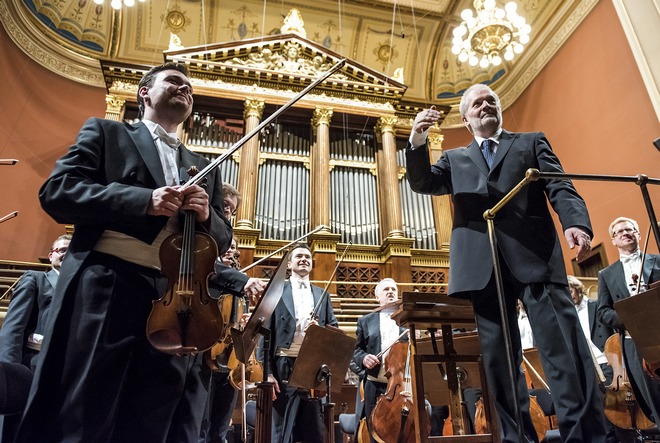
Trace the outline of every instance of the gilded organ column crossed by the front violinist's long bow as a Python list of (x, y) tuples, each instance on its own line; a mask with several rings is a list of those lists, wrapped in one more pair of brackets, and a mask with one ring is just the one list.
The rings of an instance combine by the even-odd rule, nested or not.
[[(261, 122), (265, 103), (263, 100), (245, 100), (243, 118), (245, 133), (249, 134)], [(243, 196), (238, 207), (236, 227), (254, 227), (255, 205), (257, 201), (257, 179), (259, 173), (259, 137), (252, 137), (241, 148), (238, 167), (238, 191)]]

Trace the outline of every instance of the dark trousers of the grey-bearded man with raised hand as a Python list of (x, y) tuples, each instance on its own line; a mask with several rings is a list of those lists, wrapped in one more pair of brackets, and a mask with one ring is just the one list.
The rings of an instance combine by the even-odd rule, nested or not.
[[(541, 363), (553, 394), (559, 430), (565, 443), (604, 442), (602, 392), (598, 387), (587, 341), (567, 286), (522, 284), (508, 269), (503, 272), (505, 306), (513, 343), (514, 373), (523, 427), (529, 441), (536, 433), (529, 415), (529, 397), (521, 370), (522, 349), (516, 319), (516, 303), (525, 304)], [(500, 418), (503, 442), (518, 443), (514, 392), (511, 390), (504, 332), (500, 319), (494, 275), (481, 291), (471, 294), (484, 370)]]

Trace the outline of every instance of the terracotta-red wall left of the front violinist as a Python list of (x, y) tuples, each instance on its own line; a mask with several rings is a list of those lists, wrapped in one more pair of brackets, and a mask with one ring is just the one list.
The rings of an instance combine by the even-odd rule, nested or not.
[(64, 227), (41, 210), (37, 194), (74, 141), (84, 121), (105, 115), (105, 89), (84, 86), (55, 74), (22, 52), (0, 26), (0, 259), (37, 261), (45, 257)]

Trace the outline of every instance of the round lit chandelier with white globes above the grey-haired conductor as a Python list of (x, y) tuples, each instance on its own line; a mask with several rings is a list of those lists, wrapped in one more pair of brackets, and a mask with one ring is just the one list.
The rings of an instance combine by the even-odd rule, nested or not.
[(487, 68), (498, 66), (502, 58), (512, 60), (529, 42), (531, 26), (516, 12), (515, 2), (504, 9), (498, 8), (495, 0), (474, 0), (473, 12), (461, 12), (463, 22), (454, 29), (451, 52), (471, 66)]

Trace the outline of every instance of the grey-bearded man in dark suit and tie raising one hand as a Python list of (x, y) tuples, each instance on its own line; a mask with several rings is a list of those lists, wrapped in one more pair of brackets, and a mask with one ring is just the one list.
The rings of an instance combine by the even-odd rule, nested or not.
[[(416, 192), (453, 198), (449, 295), (472, 301), (502, 441), (519, 443), (508, 351), (483, 214), (523, 179), (527, 169), (562, 172), (562, 167), (543, 133), (502, 129), (500, 100), (488, 86), (468, 88), (461, 99), (460, 114), (475, 139), (465, 148), (445, 150), (431, 166), (427, 134), (439, 121), (440, 112), (432, 106), (417, 115), (406, 149), (408, 180)], [(604, 442), (604, 417), (598, 408), (602, 393), (568, 294), (561, 244), (548, 203), (559, 216), (568, 246), (577, 248), (577, 259), (584, 259), (591, 249), (587, 208), (569, 180), (533, 182), (498, 214), (494, 225), (512, 357), (519, 367), (522, 352), (516, 301), (521, 299), (546, 363), (563, 441)], [(515, 378), (525, 434), (536, 441), (525, 378), (521, 371)]]

